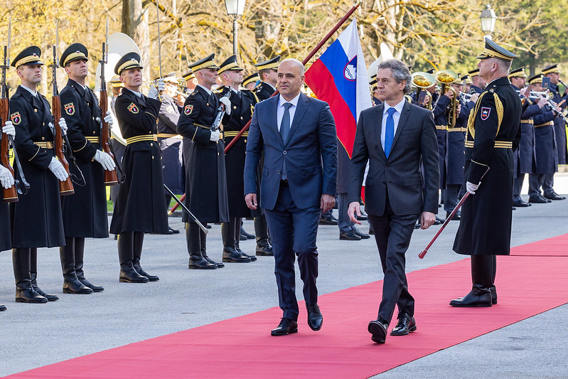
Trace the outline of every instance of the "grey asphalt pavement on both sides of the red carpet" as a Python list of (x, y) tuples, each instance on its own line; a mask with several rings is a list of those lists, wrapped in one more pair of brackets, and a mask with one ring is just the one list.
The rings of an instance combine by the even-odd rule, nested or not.
[[(568, 174), (557, 174), (555, 178), (556, 191), (568, 194)], [(527, 200), (526, 195), (523, 198)], [(444, 216), (444, 211), (439, 214)], [(512, 245), (568, 233), (567, 215), (568, 199), (518, 208), (513, 211)], [(272, 257), (229, 263), (223, 269), (190, 270), (181, 218), (170, 218), (170, 225), (180, 229), (181, 234), (146, 235), (144, 239), (141, 262), (147, 272), (159, 275), (159, 282), (154, 283), (119, 283), (116, 241), (112, 236), (87, 240), (85, 273), (91, 282), (105, 287), (105, 292), (97, 294), (63, 294), (58, 249), (40, 249), (38, 284), (45, 292), (60, 297), (48, 304), (14, 301), (11, 252), (0, 252), (0, 304), (8, 307), (0, 312), (0, 375), (277, 306)], [(438, 227), (415, 230), (407, 252), (407, 272), (462, 260), (463, 256), (451, 250), (458, 225), (459, 221), (449, 223), (424, 260), (417, 255)], [(245, 229), (253, 232), (252, 221), (245, 221)], [(363, 223), (361, 230), (368, 231), (368, 224)], [(382, 279), (373, 238), (343, 241), (338, 234), (336, 226), (319, 228), (320, 294)], [(254, 253), (254, 240), (240, 245), (245, 252)], [(208, 234), (208, 255), (220, 260), (222, 249), (220, 226), (213, 225)], [(299, 281), (299, 275), (297, 278)], [(568, 274), (565, 282), (568, 286)], [(300, 289), (301, 284), (296, 288)], [(467, 291), (464, 288), (463, 294)], [(297, 293), (301, 299), (301, 291)], [(369, 301), (378, 299), (380, 294)], [(325, 309), (322, 311), (325, 318)], [(419, 304), (416, 311), (419, 323)], [(375, 316), (370, 314), (369, 319)], [(401, 365), (377, 378), (568, 378), (566, 319), (568, 305), (559, 306)], [(278, 322), (274, 320), (274, 327)], [(440, 333), (444, 333), (443, 325)]]

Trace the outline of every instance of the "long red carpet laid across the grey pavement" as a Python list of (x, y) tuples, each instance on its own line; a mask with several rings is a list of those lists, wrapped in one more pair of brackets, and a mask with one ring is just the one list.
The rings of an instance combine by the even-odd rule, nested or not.
[[(562, 242), (567, 242), (566, 235), (530, 244), (531, 251), (545, 253), (544, 246), (554, 250)], [(302, 312), (299, 333), (269, 336), (281, 315), (274, 308), (12, 377), (71, 378), (81, 373), (82, 378), (367, 378), (566, 304), (567, 270), (565, 257), (498, 257), (499, 304), (483, 309), (448, 305), (471, 287), (468, 259), (411, 272), (418, 330), (409, 336), (388, 336), (385, 345), (370, 341), (367, 332), (368, 321), (377, 314), (382, 285), (374, 282), (321, 296), (324, 319), (319, 332), (308, 328)]]

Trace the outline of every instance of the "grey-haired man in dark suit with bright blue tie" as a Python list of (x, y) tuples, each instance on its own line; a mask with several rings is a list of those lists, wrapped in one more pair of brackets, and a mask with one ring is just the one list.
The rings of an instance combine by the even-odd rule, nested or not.
[(378, 65), (377, 89), (383, 104), (361, 112), (351, 158), (348, 214), (354, 223), (360, 223), (355, 216), (360, 215), (359, 196), (369, 161), (365, 211), (375, 230), (385, 274), (379, 315), (368, 326), (376, 343), (385, 343), (395, 305), (398, 323), (391, 336), (405, 336), (416, 330), (404, 253), (416, 220), (419, 218), (421, 228), (427, 229), (436, 220), (438, 210), (436, 127), (432, 112), (404, 99), (411, 82), (402, 61), (390, 59)]

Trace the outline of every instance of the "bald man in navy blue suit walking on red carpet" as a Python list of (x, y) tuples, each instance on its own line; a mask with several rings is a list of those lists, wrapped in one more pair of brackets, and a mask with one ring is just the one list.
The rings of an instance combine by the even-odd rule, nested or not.
[(286, 59), (278, 68), (279, 96), (259, 102), (252, 116), (245, 160), (245, 201), (257, 204), (257, 166), (264, 151), (260, 188), (272, 246), (282, 320), (272, 336), (298, 331), (294, 254), (298, 255), (308, 325), (321, 329), (317, 304), (316, 235), (321, 210), (335, 203), (336, 124), (326, 102), (300, 92), (304, 65)]

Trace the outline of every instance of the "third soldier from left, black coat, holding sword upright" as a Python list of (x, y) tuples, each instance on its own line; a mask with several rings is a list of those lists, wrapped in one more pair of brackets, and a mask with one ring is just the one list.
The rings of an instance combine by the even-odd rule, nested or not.
[(122, 136), (127, 140), (127, 148), (122, 159), (126, 178), (120, 183), (110, 233), (118, 235), (119, 281), (127, 283), (159, 280), (140, 266), (144, 233), (168, 232), (161, 155), (156, 136), (161, 102), (140, 92), (142, 68), (137, 53), (127, 53), (114, 67), (114, 73), (124, 83), (114, 110)]

